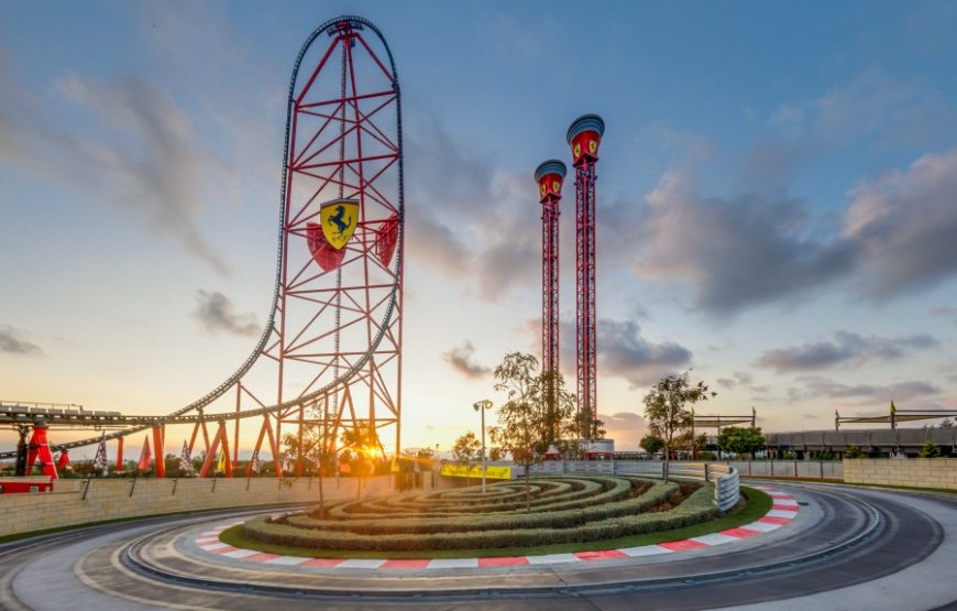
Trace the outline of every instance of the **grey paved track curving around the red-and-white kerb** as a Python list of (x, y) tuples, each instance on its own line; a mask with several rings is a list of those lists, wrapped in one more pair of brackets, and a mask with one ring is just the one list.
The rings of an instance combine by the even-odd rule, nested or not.
[[(0, 547), (0, 608), (957, 609), (957, 499), (780, 482), (776, 488), (809, 502), (803, 525), (760, 543), (746, 539), (670, 561), (580, 569), (373, 577), (340, 571), (304, 580), (301, 571), (263, 575), (175, 553), (170, 537), (201, 527), (209, 516), (89, 528)], [(844, 548), (827, 552), (835, 546)]]

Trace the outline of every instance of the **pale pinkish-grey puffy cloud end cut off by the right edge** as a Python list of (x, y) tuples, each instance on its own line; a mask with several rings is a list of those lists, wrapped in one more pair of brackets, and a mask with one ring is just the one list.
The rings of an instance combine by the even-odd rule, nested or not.
[(851, 190), (844, 239), (858, 252), (861, 294), (881, 302), (957, 274), (955, 193), (957, 149)]

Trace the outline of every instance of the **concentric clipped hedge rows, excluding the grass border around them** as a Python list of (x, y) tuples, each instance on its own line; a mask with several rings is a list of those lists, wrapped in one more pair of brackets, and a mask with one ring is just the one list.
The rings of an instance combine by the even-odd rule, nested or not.
[[(679, 487), (675, 483), (632, 478), (549, 477), (532, 481), (538, 497), (535, 499), (537, 509), (531, 513), (524, 511), (524, 500), (520, 503), (522, 511), (512, 508), (515, 489), (524, 494), (524, 483), (502, 482), (490, 487), (495, 491), (485, 498), (465, 489), (341, 503), (331, 508), (326, 519), (308, 514), (276, 520), (257, 517), (243, 525), (243, 535), (263, 543), (317, 550), (528, 547), (678, 528), (716, 515), (711, 483), (683, 499), (676, 494)], [(585, 490), (590, 491), (591, 498), (578, 495)], [(570, 495), (573, 498), (566, 500)], [(458, 511), (463, 501), (473, 504), (472, 514)], [(427, 502), (433, 505), (431, 512), (416, 513), (413, 510), (405, 513), (406, 505), (418, 508)], [(587, 502), (587, 505), (580, 506), (582, 502)], [(457, 511), (446, 512), (449, 509), (446, 503)], [(678, 505), (668, 511), (648, 511), (675, 503)], [(488, 508), (495, 505), (508, 509), (490, 513)], [(391, 511), (399, 515), (391, 516)], [(341, 519), (340, 515), (348, 517)]]

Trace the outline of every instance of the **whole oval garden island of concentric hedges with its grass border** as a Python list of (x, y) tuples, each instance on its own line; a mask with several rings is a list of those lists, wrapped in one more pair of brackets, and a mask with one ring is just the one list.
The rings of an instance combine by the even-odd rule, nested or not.
[(317, 557), (457, 557), (607, 549), (695, 536), (754, 521), (770, 509), (718, 516), (708, 482), (549, 476), (481, 488), (341, 502), (261, 516), (224, 532), (232, 545)]

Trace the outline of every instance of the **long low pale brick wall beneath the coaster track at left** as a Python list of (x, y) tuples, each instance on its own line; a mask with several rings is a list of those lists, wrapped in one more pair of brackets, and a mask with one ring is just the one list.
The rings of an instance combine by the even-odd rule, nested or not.
[[(354, 478), (323, 480), (327, 500), (354, 499)], [(428, 478), (426, 478), (428, 484)], [(118, 517), (319, 501), (318, 478), (286, 479), (94, 479), (58, 480), (55, 492), (0, 494), (0, 536)], [(249, 485), (249, 490), (246, 490)], [(132, 491), (132, 495), (130, 492)], [(391, 476), (362, 481), (362, 495), (394, 491)]]

